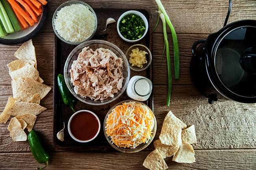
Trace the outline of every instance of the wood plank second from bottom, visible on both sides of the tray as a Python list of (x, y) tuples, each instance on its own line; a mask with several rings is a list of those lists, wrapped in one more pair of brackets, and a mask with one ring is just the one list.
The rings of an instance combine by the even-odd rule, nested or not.
[[(165, 115), (171, 110), (187, 125), (195, 125), (195, 149), (256, 148), (256, 104), (227, 101), (210, 105), (195, 87), (174, 85), (171, 105), (167, 107), (166, 94), (167, 86), (154, 86), (154, 114), (158, 125), (155, 139), (158, 139)], [(48, 95), (42, 101), (47, 110), (38, 115), (34, 129), (39, 132), (48, 150), (58, 151), (53, 146), (52, 92)], [(2, 109), (6, 100), (7, 96), (1, 96)], [(13, 142), (9, 137), (8, 123), (0, 124), (0, 152), (29, 151), (27, 142)]]

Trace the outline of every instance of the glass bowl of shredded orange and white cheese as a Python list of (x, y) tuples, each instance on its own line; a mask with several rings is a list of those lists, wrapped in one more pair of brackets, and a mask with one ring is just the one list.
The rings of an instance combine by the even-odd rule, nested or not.
[(104, 134), (118, 151), (135, 153), (145, 149), (156, 135), (156, 117), (142, 102), (125, 100), (114, 105), (104, 120)]

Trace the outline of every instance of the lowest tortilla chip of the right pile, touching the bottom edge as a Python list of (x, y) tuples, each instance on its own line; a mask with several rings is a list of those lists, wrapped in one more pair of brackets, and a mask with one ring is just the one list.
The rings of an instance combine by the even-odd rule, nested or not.
[(150, 152), (143, 162), (143, 166), (150, 170), (166, 170), (168, 169), (165, 160), (161, 157), (157, 149)]

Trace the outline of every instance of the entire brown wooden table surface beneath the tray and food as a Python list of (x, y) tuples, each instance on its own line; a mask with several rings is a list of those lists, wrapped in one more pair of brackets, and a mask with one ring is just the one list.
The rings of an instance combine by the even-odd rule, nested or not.
[[(46, 85), (53, 85), (54, 32), (52, 15), (65, 0), (49, 0), (48, 18), (43, 30), (33, 38), (38, 70)], [(103, 2), (86, 0), (88, 4)], [(152, 11), (153, 26), (157, 21), (158, 7), (154, 0), (105, 0), (104, 2), (122, 2), (142, 5)], [(243, 104), (232, 101), (208, 104), (193, 86), (189, 74), (191, 46), (198, 39), (205, 39), (209, 33), (218, 31), (228, 10), (228, 0), (162, 0), (163, 5), (176, 29), (180, 46), (180, 79), (173, 80), (170, 107), (165, 106), (167, 95), (167, 65), (163, 57), (163, 35), (161, 24), (153, 33), (153, 69), (154, 69), (154, 114), (160, 134), (161, 124), (167, 112), (183, 120), (187, 125), (195, 125), (197, 144), (196, 163), (180, 164), (165, 159), (169, 169), (256, 169), (256, 104)], [(111, 17), (111, 16), (109, 16)], [(233, 0), (229, 22), (241, 19), (256, 19), (255, 0)], [(169, 31), (170, 32), (170, 31)], [(169, 34), (169, 41), (171, 35)], [(7, 99), (12, 95), (11, 78), (7, 63), (15, 60), (14, 52), (19, 45), (0, 44), (0, 111), (4, 110)], [(170, 47), (172, 44), (170, 45)], [(173, 54), (172, 48), (170, 48)], [(173, 55), (171, 55), (173, 57)], [(173, 64), (173, 63), (172, 63)], [(173, 69), (173, 68), (172, 68)], [(138, 153), (83, 153), (67, 152), (53, 146), (53, 109), (51, 91), (41, 102), (47, 108), (38, 115), (34, 129), (39, 131), (43, 144), (50, 152), (49, 170), (82, 169), (145, 169), (142, 163), (149, 152)], [(39, 164), (30, 152), (28, 142), (13, 142), (9, 137), (7, 124), (0, 124), (0, 169), (32, 170)]]

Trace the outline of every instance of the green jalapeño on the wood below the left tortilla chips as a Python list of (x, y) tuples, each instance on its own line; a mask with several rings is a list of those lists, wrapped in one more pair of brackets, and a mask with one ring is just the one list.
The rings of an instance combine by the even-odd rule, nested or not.
[[(35, 130), (32, 130), (30, 131), (30, 133), (28, 133), (28, 143), (30, 145), (30, 150), (33, 156), (35, 157), (35, 159), (37, 160), (37, 162), (44, 163), (45, 167), (48, 166), (48, 160), (50, 159), (50, 156), (41, 145), (41, 142)], [(37, 169), (40, 170), (45, 167), (37, 168)]]

